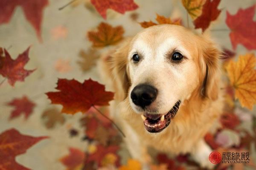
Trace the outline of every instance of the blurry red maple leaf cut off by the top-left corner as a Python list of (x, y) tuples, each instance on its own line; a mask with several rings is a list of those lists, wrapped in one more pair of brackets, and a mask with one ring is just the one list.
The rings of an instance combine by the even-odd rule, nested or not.
[(35, 28), (38, 39), (41, 41), (41, 22), (43, 9), (48, 5), (48, 0), (1, 0), (0, 24), (9, 23), (14, 9), (21, 6), (26, 19)]

